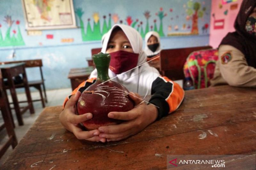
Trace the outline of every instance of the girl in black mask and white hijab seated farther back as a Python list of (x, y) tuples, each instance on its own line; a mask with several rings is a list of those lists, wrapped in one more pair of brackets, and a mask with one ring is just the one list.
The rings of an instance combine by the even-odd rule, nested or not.
[[(145, 48), (144, 52), (147, 55), (147, 61), (150, 61), (159, 56), (161, 51), (160, 48), (160, 36), (155, 31), (150, 31), (145, 35)], [(148, 64), (152, 67), (155, 67), (157, 70), (160, 68), (159, 58), (154, 59)]]

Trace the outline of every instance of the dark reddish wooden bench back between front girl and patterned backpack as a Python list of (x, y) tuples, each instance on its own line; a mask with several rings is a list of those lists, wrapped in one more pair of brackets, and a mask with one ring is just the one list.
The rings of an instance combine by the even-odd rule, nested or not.
[(171, 80), (183, 80), (183, 66), (193, 51), (209, 49), (211, 46), (163, 49), (160, 52), (160, 73)]

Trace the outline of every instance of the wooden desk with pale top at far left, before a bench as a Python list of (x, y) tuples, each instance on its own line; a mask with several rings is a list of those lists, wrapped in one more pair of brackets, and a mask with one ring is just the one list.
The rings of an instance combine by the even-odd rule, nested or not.
[[(22, 114), (25, 113), (28, 109), (31, 114), (35, 113), (30, 91), (29, 91), (28, 79), (25, 71), (25, 63), (22, 62), (22, 63), (3, 64), (3, 65), (0, 65), (0, 69), (2, 71), (3, 78), (8, 79), (8, 85), (11, 91), (12, 101), (13, 101), (13, 105), (14, 105), (14, 109), (15, 109), (15, 113), (16, 113), (19, 125), (23, 125), (24, 123), (22, 120)], [(20, 110), (20, 106), (19, 106), (19, 102), (18, 102), (16, 90), (15, 90), (15, 85), (12, 79), (13, 77), (18, 76), (19, 74), (22, 74), (26, 96), (28, 99), (28, 106), (24, 107), (21, 110)]]

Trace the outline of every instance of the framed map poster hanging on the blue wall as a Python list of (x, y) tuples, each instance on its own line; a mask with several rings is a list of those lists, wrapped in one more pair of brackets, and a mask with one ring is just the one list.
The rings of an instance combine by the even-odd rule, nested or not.
[(76, 28), (72, 0), (21, 0), (27, 30)]

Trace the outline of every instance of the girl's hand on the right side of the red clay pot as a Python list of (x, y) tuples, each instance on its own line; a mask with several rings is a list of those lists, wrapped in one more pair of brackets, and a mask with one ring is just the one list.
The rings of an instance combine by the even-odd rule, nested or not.
[(135, 102), (135, 107), (132, 110), (108, 114), (110, 118), (126, 120), (126, 122), (100, 127), (100, 137), (106, 138), (107, 141), (118, 141), (139, 133), (156, 120), (158, 111), (154, 105), (146, 105), (137, 93), (130, 92), (130, 97)]

